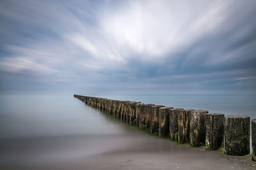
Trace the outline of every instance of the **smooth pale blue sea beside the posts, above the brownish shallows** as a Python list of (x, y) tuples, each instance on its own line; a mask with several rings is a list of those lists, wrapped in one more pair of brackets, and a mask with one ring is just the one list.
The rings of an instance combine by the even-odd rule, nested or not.
[[(204, 109), (209, 113), (256, 118), (255, 95), (126, 95), (109, 99)], [(98, 110), (70, 95), (4, 95), (0, 97), (0, 138), (118, 133)]]

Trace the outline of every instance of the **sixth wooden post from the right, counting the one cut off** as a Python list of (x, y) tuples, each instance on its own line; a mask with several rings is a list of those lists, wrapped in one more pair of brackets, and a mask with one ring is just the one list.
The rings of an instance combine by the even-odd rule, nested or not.
[(170, 119), (170, 138), (172, 141), (178, 141), (178, 114), (182, 108), (175, 108), (169, 110)]

